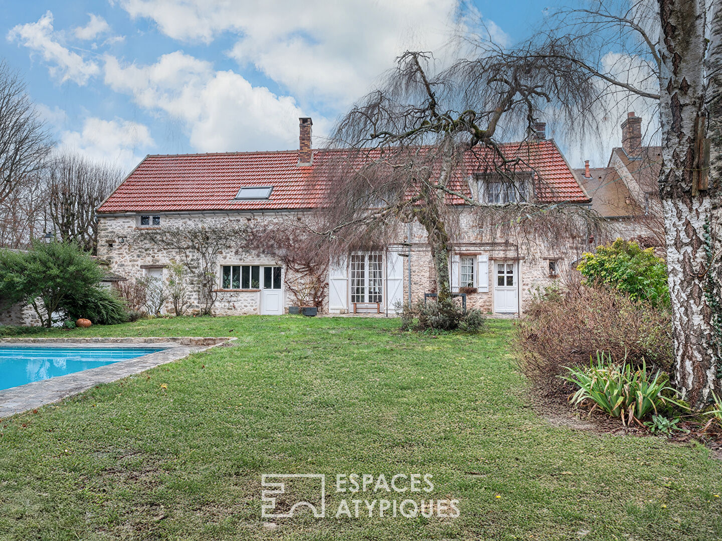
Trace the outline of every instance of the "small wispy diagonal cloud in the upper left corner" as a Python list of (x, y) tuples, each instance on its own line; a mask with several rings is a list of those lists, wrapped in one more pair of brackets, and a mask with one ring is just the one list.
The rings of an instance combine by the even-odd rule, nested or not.
[(100, 71), (95, 62), (84, 61), (82, 56), (58, 42), (58, 36), (53, 32), (53, 14), (49, 11), (38, 22), (13, 27), (7, 39), (39, 53), (48, 63), (51, 76), (58, 77), (61, 82), (71, 80), (83, 85)]

